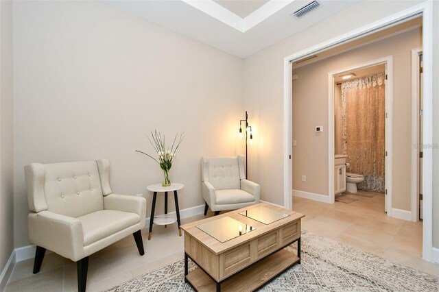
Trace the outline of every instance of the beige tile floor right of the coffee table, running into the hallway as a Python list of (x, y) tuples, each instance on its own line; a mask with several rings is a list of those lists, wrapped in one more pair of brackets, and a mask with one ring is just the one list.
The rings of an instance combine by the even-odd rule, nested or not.
[(388, 217), (383, 193), (366, 193), (375, 197), (345, 193), (348, 199), (355, 199), (348, 204), (293, 197), (293, 210), (306, 215), (304, 230), (439, 276), (439, 265), (422, 259), (423, 223)]

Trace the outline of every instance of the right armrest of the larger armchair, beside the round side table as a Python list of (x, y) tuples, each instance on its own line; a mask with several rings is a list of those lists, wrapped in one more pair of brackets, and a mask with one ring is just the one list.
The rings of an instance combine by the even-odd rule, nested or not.
[(141, 221), (143, 221), (143, 224), (145, 224), (146, 199), (144, 197), (117, 194), (106, 195), (104, 197), (104, 209), (136, 213), (141, 218)]

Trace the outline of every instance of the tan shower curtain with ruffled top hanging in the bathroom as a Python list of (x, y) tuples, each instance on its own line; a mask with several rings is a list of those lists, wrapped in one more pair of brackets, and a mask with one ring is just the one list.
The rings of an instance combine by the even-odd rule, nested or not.
[(385, 188), (385, 74), (342, 82), (342, 150), (348, 172), (364, 175), (358, 188)]

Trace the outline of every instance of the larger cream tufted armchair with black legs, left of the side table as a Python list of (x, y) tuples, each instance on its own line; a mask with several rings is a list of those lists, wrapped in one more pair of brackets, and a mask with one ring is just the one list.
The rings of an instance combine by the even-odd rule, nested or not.
[(108, 160), (25, 166), (29, 241), (36, 245), (34, 273), (47, 250), (77, 262), (78, 291), (85, 291), (88, 256), (133, 234), (145, 254), (143, 197), (113, 194)]

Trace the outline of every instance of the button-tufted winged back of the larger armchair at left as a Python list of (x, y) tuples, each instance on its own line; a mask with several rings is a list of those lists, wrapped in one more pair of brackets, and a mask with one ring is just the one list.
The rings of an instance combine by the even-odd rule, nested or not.
[(29, 209), (69, 217), (103, 210), (103, 196), (111, 193), (108, 169), (109, 162), (104, 159), (26, 165)]

